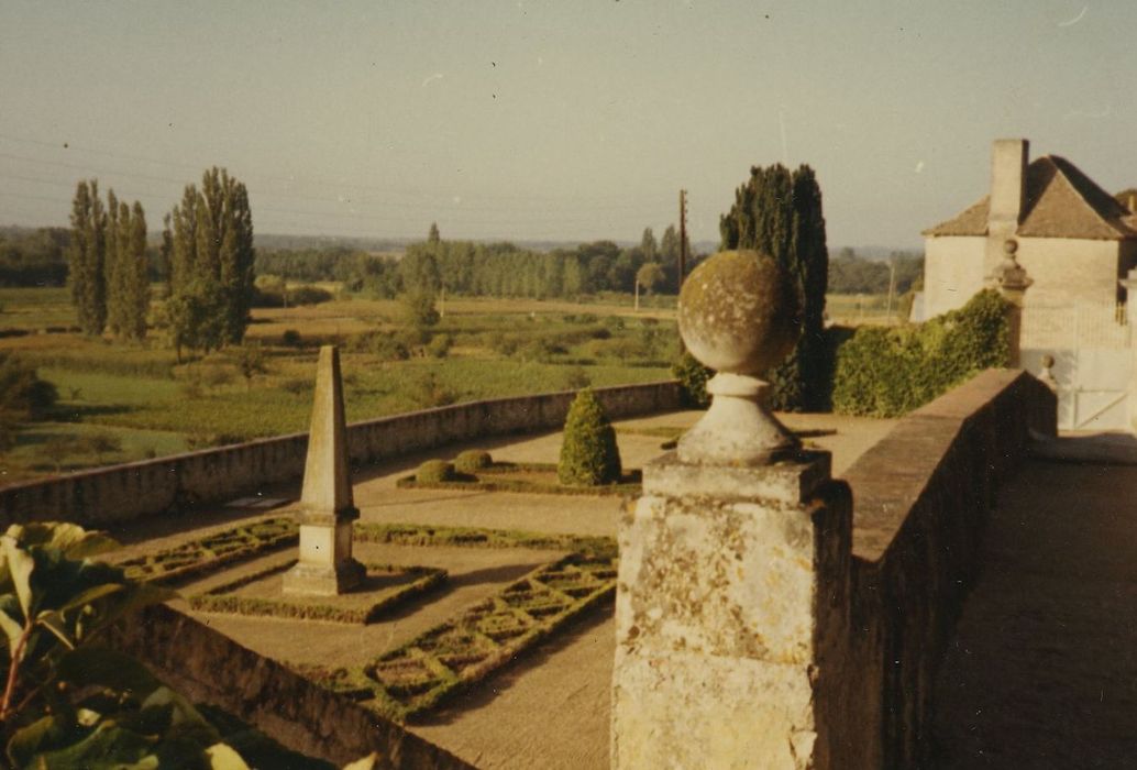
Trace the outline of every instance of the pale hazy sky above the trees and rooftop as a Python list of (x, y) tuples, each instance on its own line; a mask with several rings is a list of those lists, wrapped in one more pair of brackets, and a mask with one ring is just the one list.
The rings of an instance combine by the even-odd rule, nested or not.
[(830, 245), (919, 246), (1027, 136), (1137, 184), (1132, 0), (0, 0), (0, 224), (151, 229), (209, 165), (263, 233), (696, 240), (808, 163)]

